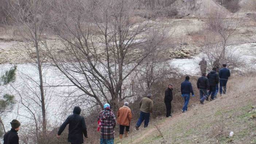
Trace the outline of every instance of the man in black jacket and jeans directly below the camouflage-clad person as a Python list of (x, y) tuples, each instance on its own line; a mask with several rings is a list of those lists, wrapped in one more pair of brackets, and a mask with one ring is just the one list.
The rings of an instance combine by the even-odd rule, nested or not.
[(200, 92), (200, 103), (203, 105), (203, 102), (208, 101), (208, 93), (209, 90), (209, 80), (206, 78), (206, 73), (202, 74), (202, 77), (198, 78), (197, 80), (197, 88)]

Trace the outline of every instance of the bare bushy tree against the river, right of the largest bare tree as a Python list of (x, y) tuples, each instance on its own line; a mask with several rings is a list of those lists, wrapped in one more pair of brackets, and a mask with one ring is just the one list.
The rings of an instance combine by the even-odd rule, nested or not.
[(131, 92), (134, 96), (143, 96), (147, 93), (153, 95), (158, 92), (154, 89), (156, 83), (165, 81), (168, 78), (177, 75), (177, 70), (174, 69), (166, 59), (162, 58), (161, 52), (151, 53), (143, 63), (132, 73)]

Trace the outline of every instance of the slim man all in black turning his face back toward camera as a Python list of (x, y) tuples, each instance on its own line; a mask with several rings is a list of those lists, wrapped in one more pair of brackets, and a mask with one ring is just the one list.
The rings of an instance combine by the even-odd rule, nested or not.
[(172, 84), (169, 84), (164, 93), (164, 104), (166, 106), (166, 117), (171, 117)]

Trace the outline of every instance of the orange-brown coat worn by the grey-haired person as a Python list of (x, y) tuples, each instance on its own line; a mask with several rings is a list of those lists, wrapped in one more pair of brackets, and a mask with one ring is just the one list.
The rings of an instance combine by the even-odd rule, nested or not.
[(132, 111), (128, 106), (123, 106), (117, 111), (117, 124), (129, 126), (132, 120)]

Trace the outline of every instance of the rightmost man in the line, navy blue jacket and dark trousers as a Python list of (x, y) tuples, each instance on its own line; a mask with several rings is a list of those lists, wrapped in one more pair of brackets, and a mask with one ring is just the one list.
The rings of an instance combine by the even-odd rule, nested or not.
[(223, 93), (226, 94), (226, 85), (228, 82), (228, 78), (230, 77), (230, 71), (228, 68), (226, 68), (226, 64), (222, 65), (223, 68), (220, 69), (219, 77), (220, 77), (220, 95), (222, 94), (222, 87), (223, 87)]

